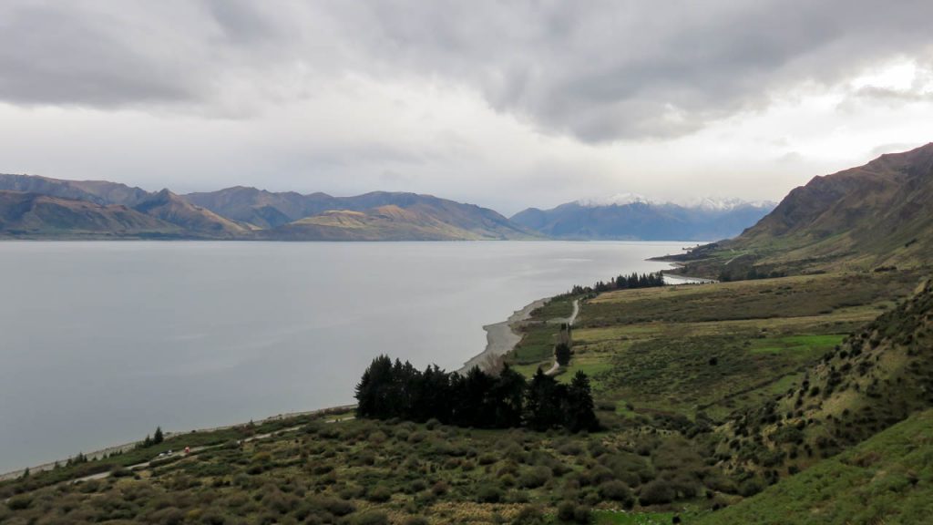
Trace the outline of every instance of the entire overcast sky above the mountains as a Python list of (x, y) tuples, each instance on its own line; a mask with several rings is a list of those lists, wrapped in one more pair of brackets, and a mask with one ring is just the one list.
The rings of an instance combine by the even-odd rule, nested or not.
[(933, 141), (933, 2), (4, 0), (0, 173), (779, 201)]

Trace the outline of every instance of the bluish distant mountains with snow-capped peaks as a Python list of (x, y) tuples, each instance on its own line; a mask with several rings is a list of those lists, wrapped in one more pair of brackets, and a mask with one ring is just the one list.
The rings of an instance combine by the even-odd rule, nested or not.
[(655, 204), (626, 193), (549, 210), (528, 208), (511, 220), (563, 239), (710, 240), (740, 234), (772, 208), (772, 203), (711, 199), (693, 206)]

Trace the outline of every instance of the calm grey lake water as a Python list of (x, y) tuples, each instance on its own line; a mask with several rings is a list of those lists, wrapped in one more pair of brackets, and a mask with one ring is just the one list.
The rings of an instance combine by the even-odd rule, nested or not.
[(380, 353), (456, 369), (483, 325), (682, 246), (3, 242), (0, 473), (352, 403)]

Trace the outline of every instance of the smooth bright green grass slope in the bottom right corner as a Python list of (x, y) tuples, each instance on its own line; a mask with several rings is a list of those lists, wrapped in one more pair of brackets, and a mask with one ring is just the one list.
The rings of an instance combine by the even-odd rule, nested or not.
[(696, 523), (908, 525), (930, 517), (933, 410), (926, 410)]

